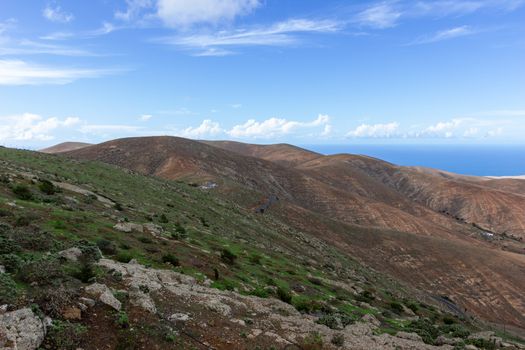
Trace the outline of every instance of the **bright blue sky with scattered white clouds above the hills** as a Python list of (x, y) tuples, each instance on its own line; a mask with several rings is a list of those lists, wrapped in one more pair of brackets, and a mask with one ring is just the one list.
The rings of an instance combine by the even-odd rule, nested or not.
[(525, 0), (0, 3), (0, 144), (140, 135), (523, 144)]

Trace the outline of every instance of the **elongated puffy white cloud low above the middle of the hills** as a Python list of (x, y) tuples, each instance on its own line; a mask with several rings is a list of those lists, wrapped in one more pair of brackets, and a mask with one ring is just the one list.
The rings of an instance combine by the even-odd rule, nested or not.
[(254, 119), (250, 119), (244, 124), (235, 125), (227, 133), (237, 138), (272, 138), (287, 135), (299, 129), (325, 126), (329, 121), (330, 117), (322, 114), (310, 122), (299, 122), (280, 118), (270, 118), (262, 122), (257, 122)]

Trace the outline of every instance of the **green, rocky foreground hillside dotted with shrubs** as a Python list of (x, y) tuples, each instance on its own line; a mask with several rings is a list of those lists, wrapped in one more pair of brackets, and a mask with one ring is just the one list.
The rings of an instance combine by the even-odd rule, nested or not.
[[(489, 326), (450, 299), (370, 269), (343, 241), (310, 234), (314, 226), (297, 229), (215, 190), (29, 151), (0, 148), (0, 161), (3, 348), (435, 349), (446, 337), (458, 346), (512, 341), (477, 333)], [(351, 240), (372, 236), (309, 220), (344, 227)]]

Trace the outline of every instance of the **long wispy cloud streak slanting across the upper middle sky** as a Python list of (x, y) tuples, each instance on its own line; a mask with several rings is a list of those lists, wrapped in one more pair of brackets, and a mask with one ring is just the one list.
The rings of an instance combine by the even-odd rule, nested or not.
[(333, 33), (341, 29), (339, 22), (332, 20), (291, 19), (268, 27), (219, 31), (213, 34), (176, 35), (156, 41), (189, 50), (198, 50), (200, 55), (227, 55), (232, 52), (225, 47), (239, 46), (284, 46), (296, 44), (300, 34)]

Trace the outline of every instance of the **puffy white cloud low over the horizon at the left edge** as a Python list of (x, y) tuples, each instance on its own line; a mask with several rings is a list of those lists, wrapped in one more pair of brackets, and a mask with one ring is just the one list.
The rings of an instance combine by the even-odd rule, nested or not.
[(52, 140), (53, 131), (72, 127), (79, 122), (80, 119), (76, 117), (46, 119), (31, 113), (0, 117), (0, 142)]

